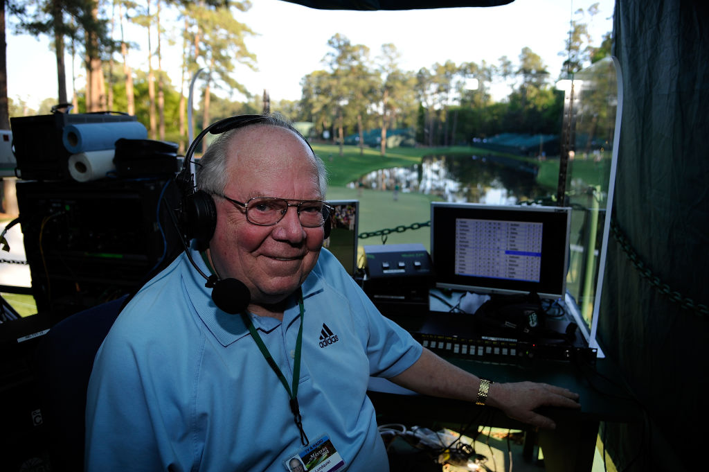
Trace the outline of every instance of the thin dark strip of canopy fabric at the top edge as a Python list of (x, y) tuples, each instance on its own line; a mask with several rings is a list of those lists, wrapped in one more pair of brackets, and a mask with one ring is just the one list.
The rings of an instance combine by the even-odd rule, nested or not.
[(285, 0), (320, 10), (415, 10), (456, 6), (498, 6), (513, 0)]

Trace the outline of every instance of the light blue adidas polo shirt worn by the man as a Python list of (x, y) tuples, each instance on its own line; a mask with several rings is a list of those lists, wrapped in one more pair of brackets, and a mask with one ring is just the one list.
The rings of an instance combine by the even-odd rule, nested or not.
[[(89, 383), (87, 471), (282, 472), (301, 450), (284, 386), (241, 317), (216, 308), (204, 282), (183, 253), (116, 319)], [(303, 429), (311, 443), (328, 435), (347, 471), (386, 471), (368, 379), (405, 371), (422, 348), (325, 249), (303, 302)], [(282, 323), (252, 321), (290, 384), (296, 300)]]

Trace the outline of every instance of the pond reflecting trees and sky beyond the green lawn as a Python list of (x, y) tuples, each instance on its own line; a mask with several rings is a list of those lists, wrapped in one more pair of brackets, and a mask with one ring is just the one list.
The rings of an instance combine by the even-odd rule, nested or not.
[[(508, 205), (543, 197), (535, 182), (537, 166), (497, 155), (428, 155), (408, 168), (364, 175), (365, 188), (437, 195), (446, 202)], [(358, 182), (350, 183), (356, 187)]]

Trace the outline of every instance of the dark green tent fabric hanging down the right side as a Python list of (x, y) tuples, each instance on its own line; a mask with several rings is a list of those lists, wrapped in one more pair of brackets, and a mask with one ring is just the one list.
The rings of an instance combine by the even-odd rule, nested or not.
[(603, 436), (619, 470), (636, 457), (692, 470), (709, 416), (709, 7), (616, 0), (614, 21), (624, 89), (614, 219), (627, 242), (608, 244), (598, 333), (649, 422), (608, 424)]

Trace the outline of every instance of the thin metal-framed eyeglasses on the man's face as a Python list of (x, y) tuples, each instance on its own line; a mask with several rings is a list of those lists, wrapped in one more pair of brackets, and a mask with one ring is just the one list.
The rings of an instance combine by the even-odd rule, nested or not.
[(246, 203), (238, 202), (226, 195), (217, 194), (219, 197), (231, 202), (246, 211), (246, 219), (249, 223), (259, 226), (273, 226), (277, 224), (288, 212), (288, 207), (296, 207), (298, 219), (301, 225), (306, 228), (317, 228), (323, 226), (328, 221), (333, 207), (323, 202), (323, 200), (289, 200), (274, 197), (253, 197)]

